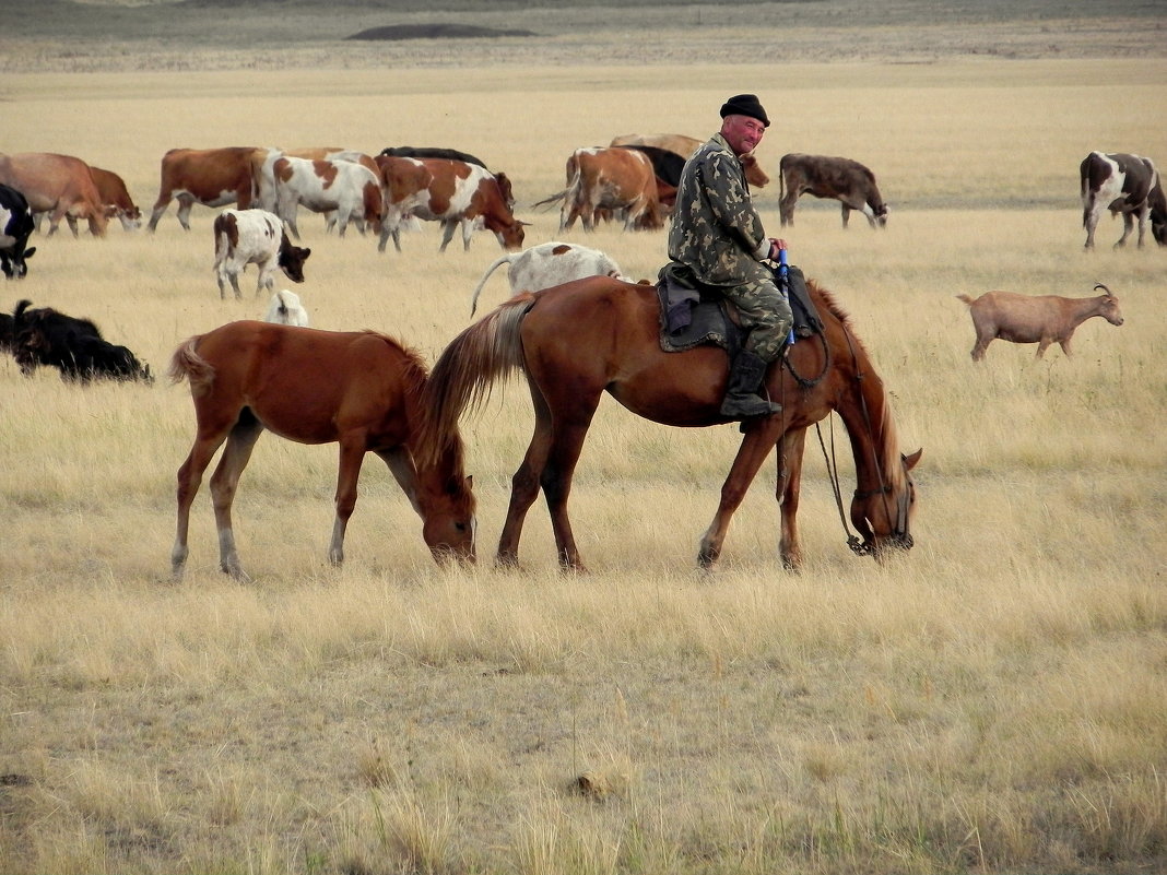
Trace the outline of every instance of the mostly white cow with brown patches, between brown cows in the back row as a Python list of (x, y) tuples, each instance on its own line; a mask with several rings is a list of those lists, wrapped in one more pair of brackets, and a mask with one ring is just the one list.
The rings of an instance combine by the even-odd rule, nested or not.
[(335, 212), (337, 233), (344, 237), (350, 219), (380, 231), (385, 198), (380, 176), (363, 164), (344, 160), (309, 161), (284, 155), (272, 164), (275, 177), (275, 212), (300, 239), (296, 211)]

